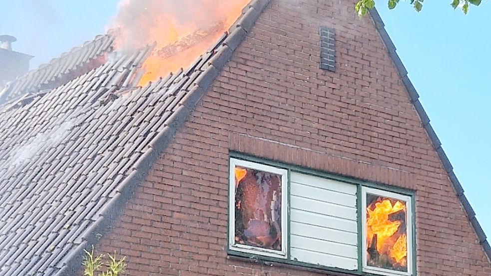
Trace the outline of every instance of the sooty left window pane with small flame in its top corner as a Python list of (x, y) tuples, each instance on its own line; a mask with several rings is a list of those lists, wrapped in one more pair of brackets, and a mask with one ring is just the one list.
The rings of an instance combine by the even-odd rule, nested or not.
[(281, 251), (281, 176), (235, 167), (235, 243)]

